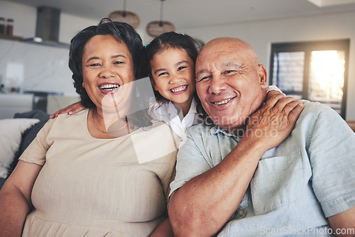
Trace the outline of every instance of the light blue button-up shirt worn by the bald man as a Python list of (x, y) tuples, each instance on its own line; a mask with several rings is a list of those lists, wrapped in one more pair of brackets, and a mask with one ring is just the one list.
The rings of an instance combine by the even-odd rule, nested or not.
[[(219, 236), (328, 236), (327, 217), (355, 206), (355, 133), (328, 106), (304, 104), (290, 136), (263, 154)], [(239, 140), (218, 126), (190, 128), (170, 194), (216, 166)]]

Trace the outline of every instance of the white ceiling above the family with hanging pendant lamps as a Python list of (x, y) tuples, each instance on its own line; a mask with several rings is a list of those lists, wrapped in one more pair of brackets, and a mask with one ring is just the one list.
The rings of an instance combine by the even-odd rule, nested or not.
[[(99, 21), (123, 10), (124, 0), (11, 0), (30, 6), (52, 6), (62, 13)], [(160, 0), (126, 0), (126, 11), (141, 18), (139, 28), (160, 19)], [(166, 0), (163, 20), (176, 28), (241, 23), (275, 18), (355, 11), (355, 0)]]

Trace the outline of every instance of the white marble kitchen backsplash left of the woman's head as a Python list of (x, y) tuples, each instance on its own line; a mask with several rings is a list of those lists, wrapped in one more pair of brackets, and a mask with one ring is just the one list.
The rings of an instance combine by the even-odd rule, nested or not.
[(69, 48), (0, 39), (0, 80), (5, 90), (74, 95)]

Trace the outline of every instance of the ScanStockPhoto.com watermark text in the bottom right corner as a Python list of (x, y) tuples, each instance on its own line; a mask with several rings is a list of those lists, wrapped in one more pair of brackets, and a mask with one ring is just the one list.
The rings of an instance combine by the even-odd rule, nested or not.
[(259, 233), (262, 236), (276, 236), (276, 235), (294, 235), (294, 236), (324, 236), (324, 235), (354, 235), (354, 228), (337, 228), (333, 230), (332, 228), (290, 228), (288, 226), (283, 226), (281, 228), (270, 228), (266, 226), (261, 226), (259, 228)]

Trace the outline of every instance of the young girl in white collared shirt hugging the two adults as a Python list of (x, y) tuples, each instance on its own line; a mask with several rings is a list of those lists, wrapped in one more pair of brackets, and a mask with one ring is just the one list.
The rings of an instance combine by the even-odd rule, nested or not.
[[(148, 114), (168, 123), (182, 140), (187, 128), (203, 121), (198, 116), (197, 107), (200, 106), (197, 104), (200, 101), (195, 90), (195, 62), (199, 50), (192, 37), (175, 32), (159, 35), (143, 49), (148, 62), (146, 71), (155, 93)], [(266, 90), (280, 92), (275, 86)], [(84, 107), (77, 102), (50, 117), (63, 113), (75, 114), (82, 109)]]

